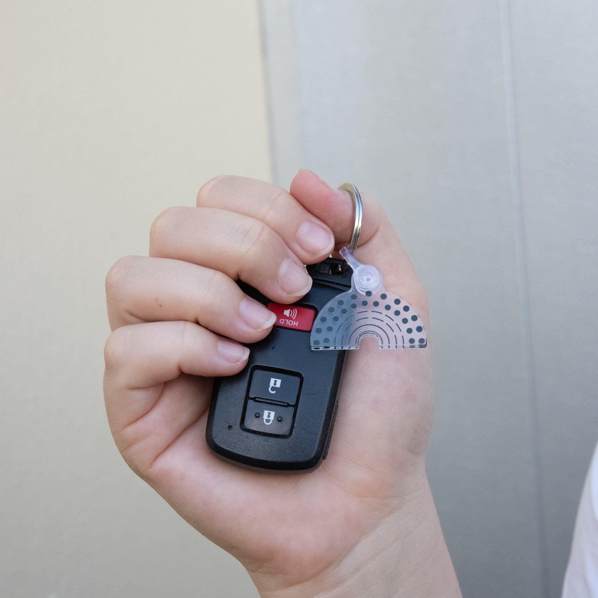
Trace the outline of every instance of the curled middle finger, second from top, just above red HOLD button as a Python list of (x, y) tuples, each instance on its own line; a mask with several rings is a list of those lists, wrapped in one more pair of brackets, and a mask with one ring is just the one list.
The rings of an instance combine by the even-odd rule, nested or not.
[(279, 303), (297, 301), (312, 286), (303, 263), (277, 233), (228, 210), (164, 210), (152, 224), (149, 254), (219, 270)]

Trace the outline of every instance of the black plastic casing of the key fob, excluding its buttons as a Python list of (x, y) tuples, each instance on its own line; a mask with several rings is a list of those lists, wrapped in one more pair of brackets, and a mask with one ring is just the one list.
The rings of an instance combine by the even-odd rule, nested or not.
[[(294, 305), (318, 313), (351, 286), (352, 270), (343, 260), (328, 258), (308, 266), (310, 291)], [(239, 286), (264, 305), (267, 297), (245, 283)], [(311, 471), (326, 458), (337, 408), (344, 351), (313, 351), (310, 332), (274, 326), (258, 343), (247, 345), (248, 363), (239, 374), (216, 378), (208, 413), (206, 441), (213, 453), (248, 468)], [(300, 376), (300, 394), (291, 435), (276, 437), (243, 429), (248, 383), (255, 368)]]

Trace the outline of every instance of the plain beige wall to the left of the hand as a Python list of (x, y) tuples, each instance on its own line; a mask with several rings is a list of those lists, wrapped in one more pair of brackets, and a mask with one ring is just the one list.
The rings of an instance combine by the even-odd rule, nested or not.
[(269, 178), (253, 0), (7, 0), (0, 19), (0, 596), (257, 596), (129, 471), (103, 278), (218, 173)]

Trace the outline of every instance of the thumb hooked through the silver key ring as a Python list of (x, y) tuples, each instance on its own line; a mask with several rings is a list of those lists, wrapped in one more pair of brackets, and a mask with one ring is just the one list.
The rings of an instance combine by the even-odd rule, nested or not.
[[(331, 228), (335, 249), (349, 243), (355, 212), (347, 191), (335, 189), (310, 170), (301, 169), (291, 182), (291, 195)], [(355, 258), (382, 271), (385, 288), (404, 297), (427, 320), (426, 295), (395, 229), (376, 200), (366, 195), (362, 201), (361, 235)]]

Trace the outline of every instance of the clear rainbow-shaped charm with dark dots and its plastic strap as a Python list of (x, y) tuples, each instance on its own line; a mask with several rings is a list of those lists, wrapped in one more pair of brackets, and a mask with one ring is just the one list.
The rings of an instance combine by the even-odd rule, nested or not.
[(398, 295), (386, 291), (382, 272), (340, 250), (353, 269), (351, 290), (337, 295), (318, 313), (310, 343), (313, 350), (359, 349), (363, 337), (377, 338), (380, 349), (428, 344), (422, 319)]

